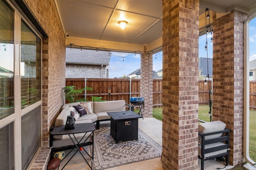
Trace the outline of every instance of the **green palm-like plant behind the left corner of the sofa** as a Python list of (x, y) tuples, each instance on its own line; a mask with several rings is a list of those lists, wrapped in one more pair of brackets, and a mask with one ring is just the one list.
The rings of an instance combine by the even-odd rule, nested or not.
[(92, 91), (92, 88), (90, 87), (76, 89), (76, 86), (66, 86), (63, 89), (64, 89), (64, 92), (66, 93), (65, 98), (70, 103), (86, 101), (86, 99), (78, 99), (78, 95), (82, 94), (84, 90)]

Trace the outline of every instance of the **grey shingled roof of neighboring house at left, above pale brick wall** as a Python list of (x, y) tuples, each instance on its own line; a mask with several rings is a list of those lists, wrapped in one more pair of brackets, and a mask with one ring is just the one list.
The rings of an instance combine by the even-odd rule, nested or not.
[(111, 53), (108, 51), (85, 50), (66, 48), (67, 64), (90, 64), (90, 65), (109, 65)]

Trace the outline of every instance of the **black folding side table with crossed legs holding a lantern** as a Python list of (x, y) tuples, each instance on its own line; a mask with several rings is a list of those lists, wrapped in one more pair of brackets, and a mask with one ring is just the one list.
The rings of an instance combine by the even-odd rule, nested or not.
[[(54, 127), (53, 131), (51, 132), (52, 135), (68, 135), (71, 139), (71, 141), (74, 143), (74, 145), (76, 146), (76, 152), (80, 152), (80, 154), (82, 155), (82, 157), (84, 158), (84, 155), (82, 154), (82, 152), (79, 150), (80, 147), (83, 148), (83, 143), (80, 143), (82, 141), (82, 139), (84, 139), (85, 135), (87, 133), (90, 133), (90, 135), (86, 138), (86, 140), (92, 135), (92, 153), (91, 155), (86, 151), (86, 154), (88, 154), (88, 156), (91, 158), (91, 165), (89, 164), (89, 162), (86, 160), (86, 158), (84, 158), (85, 162), (88, 164), (88, 166), (90, 167), (90, 169), (92, 170), (93, 167), (93, 152), (94, 152), (94, 131), (95, 131), (95, 126), (94, 123), (78, 123), (76, 124), (76, 128), (75, 129), (65, 129), (65, 125), (62, 126), (56, 126)], [(82, 139), (80, 141), (78, 141), (75, 137), (74, 134), (76, 133), (85, 133), (84, 136), (82, 137)], [(74, 137), (72, 139), (72, 136)], [(84, 141), (86, 141), (84, 140)], [(77, 144), (76, 144), (77, 143)], [(73, 150), (73, 149), (72, 149)], [(72, 151), (71, 150), (71, 151)], [(71, 152), (70, 151), (70, 152)], [(70, 153), (69, 152), (69, 153)], [(76, 154), (76, 152), (71, 156), (71, 158), (68, 160), (68, 162), (73, 158), (73, 156)], [(69, 154), (68, 153), (68, 154)], [(68, 155), (67, 154), (67, 155)], [(66, 158), (66, 156), (64, 157), (64, 159)], [(62, 160), (64, 160), (62, 159)], [(68, 164), (68, 162), (63, 166), (63, 168)], [(62, 169), (63, 169), (62, 168)]]

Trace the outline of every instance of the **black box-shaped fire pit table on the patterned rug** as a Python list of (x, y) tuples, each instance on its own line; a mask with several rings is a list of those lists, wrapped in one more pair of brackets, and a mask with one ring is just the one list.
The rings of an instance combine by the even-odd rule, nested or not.
[(114, 111), (107, 112), (110, 118), (110, 135), (116, 140), (126, 141), (138, 139), (138, 118), (141, 115), (133, 111)]

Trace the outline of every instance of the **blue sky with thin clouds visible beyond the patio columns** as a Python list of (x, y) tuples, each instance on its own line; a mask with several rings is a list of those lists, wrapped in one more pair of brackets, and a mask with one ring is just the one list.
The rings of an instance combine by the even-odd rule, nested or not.
[[(249, 23), (249, 41), (250, 41), (250, 61), (256, 59), (256, 18)], [(210, 42), (211, 35), (208, 34), (208, 58), (212, 58), (212, 43)], [(199, 57), (207, 57), (207, 53), (204, 50), (206, 43), (206, 36), (199, 37)], [(124, 58), (123, 58), (124, 57)], [(140, 68), (140, 55), (117, 53), (112, 52), (109, 63), (109, 78), (122, 77), (128, 75)], [(158, 71), (162, 69), (162, 53), (156, 53), (153, 55), (153, 70)]]

